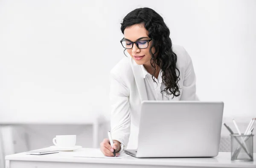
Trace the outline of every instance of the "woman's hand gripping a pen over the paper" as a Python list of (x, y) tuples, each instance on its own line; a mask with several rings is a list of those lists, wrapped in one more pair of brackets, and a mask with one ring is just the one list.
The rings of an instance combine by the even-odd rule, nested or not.
[[(113, 141), (113, 148), (110, 145), (109, 139), (103, 139), (103, 141), (100, 143), (100, 150), (105, 156), (114, 156), (113, 151), (114, 149), (116, 152), (119, 152), (121, 149), (121, 145), (118, 141)], [(119, 156), (119, 153), (116, 153), (116, 156)]]

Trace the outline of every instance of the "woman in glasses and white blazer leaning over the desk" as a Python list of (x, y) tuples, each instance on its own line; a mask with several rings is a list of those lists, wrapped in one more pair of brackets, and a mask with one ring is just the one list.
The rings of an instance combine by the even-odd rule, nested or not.
[[(135, 9), (121, 23), (120, 41), (129, 56), (111, 70), (111, 133), (100, 149), (117, 155), (137, 149), (140, 106), (144, 100), (197, 100), (192, 60), (182, 46), (172, 45), (170, 31), (153, 9)], [(124, 51), (125, 52), (125, 51)], [(129, 142), (129, 143), (128, 143)]]

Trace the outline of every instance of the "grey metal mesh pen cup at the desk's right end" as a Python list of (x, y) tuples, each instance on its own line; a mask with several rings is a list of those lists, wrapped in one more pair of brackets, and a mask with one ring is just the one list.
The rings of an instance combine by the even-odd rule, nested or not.
[(253, 161), (253, 134), (231, 134), (231, 160), (238, 162)]

